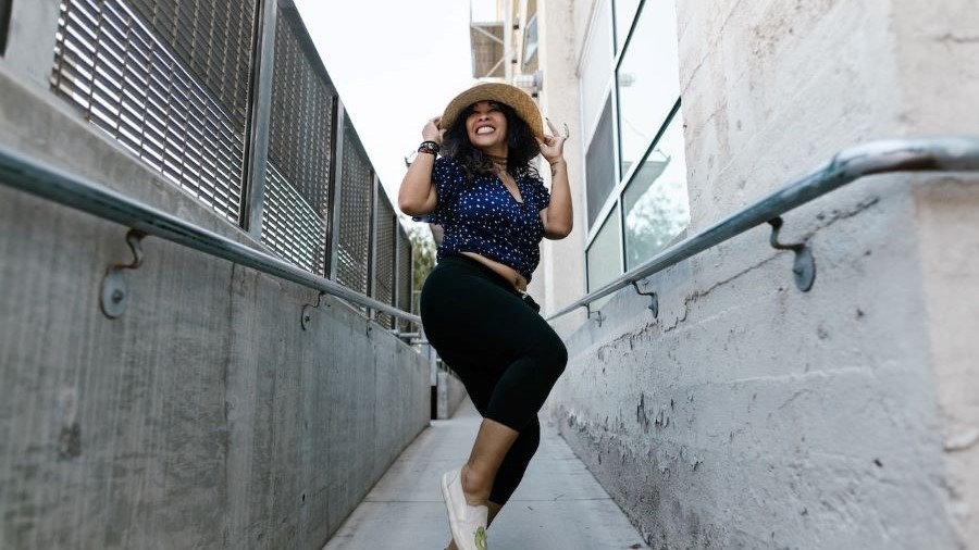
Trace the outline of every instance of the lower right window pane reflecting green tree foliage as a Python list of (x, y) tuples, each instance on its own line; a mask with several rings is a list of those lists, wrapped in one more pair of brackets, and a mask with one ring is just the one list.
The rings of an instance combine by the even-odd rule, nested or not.
[(653, 258), (690, 225), (683, 117), (678, 111), (622, 196), (625, 268)]

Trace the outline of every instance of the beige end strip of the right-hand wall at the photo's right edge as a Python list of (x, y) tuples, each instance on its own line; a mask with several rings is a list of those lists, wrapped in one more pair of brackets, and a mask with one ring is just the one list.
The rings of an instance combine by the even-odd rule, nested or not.
[[(979, 8), (892, 0), (902, 104), (915, 134), (979, 134)], [(979, 548), (979, 176), (916, 189), (946, 503), (963, 546)]]

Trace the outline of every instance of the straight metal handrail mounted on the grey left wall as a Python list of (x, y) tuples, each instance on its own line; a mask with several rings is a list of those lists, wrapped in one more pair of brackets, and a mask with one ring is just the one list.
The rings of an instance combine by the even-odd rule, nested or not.
[(277, 258), (148, 207), (95, 182), (0, 147), (0, 184), (64, 207), (132, 227), (147, 235), (421, 324), (421, 317), (380, 302)]

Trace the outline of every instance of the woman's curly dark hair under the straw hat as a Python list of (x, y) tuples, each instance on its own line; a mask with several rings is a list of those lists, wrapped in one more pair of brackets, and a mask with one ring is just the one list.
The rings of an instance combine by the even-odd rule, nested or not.
[[(541, 146), (534, 139), (534, 133), (510, 105), (495, 101), (493, 103), (507, 118), (507, 172), (515, 176), (529, 175), (540, 179), (537, 167), (531, 162), (541, 154)], [(493, 160), (472, 145), (466, 130), (466, 118), (474, 112), (473, 105), (459, 113), (456, 122), (446, 130), (442, 143), (443, 153), (462, 165), (470, 182), (474, 177), (496, 175)]]

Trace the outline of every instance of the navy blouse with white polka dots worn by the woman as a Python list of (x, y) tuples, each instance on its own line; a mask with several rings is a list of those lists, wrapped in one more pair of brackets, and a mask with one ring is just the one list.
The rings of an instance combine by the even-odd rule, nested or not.
[(550, 202), (550, 193), (538, 177), (515, 174), (513, 179), (523, 202), (518, 202), (495, 175), (467, 182), (462, 165), (455, 159), (442, 157), (435, 161), (435, 212), (417, 220), (443, 227), (438, 260), (475, 252), (509, 265), (530, 282), (541, 261), (541, 211)]

